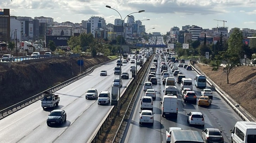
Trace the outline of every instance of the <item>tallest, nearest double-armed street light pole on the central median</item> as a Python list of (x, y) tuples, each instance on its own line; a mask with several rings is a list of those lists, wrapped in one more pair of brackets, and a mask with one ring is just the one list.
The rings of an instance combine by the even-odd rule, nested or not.
[[(127, 18), (127, 16), (123, 19), (121, 14), (114, 8), (111, 8), (111, 6), (106, 6), (107, 8), (110, 8), (110, 9), (113, 9), (114, 11), (116, 11), (120, 17), (121, 17), (121, 20), (122, 20), (122, 32), (121, 32), (121, 43), (120, 43), (120, 70), (121, 70), (121, 60), (122, 60), (122, 39), (123, 39), (123, 22), (124, 20)], [(141, 13), (141, 12), (145, 12), (144, 10), (141, 10), (139, 12), (133, 12), (133, 13)], [(130, 14), (133, 14), (133, 13), (130, 13)], [(128, 14), (128, 15), (130, 15)], [(119, 74), (119, 80), (121, 80), (121, 74)], [(118, 116), (120, 116), (120, 96), (121, 96), (121, 82), (119, 82), (119, 95), (118, 95)]]

